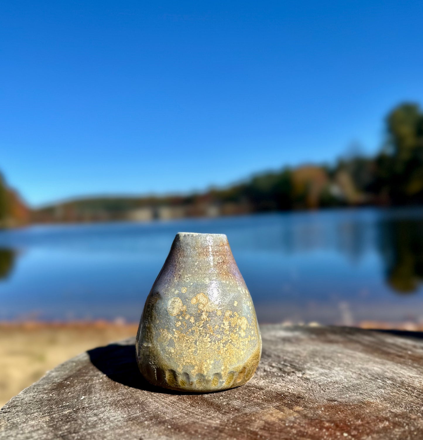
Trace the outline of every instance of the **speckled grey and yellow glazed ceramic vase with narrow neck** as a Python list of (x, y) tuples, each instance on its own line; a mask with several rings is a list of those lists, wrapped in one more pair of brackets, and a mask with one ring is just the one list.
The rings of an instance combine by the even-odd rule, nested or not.
[(252, 377), (261, 347), (254, 305), (226, 235), (177, 234), (139, 325), (143, 376), (181, 391), (233, 388)]

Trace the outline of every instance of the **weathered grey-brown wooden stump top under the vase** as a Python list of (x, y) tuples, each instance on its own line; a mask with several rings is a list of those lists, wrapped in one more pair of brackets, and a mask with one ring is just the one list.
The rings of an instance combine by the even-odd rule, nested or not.
[(239, 388), (153, 388), (135, 339), (59, 365), (0, 410), (0, 439), (423, 439), (423, 335), (262, 326)]

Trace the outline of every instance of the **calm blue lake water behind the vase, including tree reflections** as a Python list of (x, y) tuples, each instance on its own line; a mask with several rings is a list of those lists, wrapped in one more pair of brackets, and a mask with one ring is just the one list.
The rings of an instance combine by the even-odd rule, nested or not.
[(423, 321), (423, 209), (0, 231), (0, 319), (138, 321), (178, 231), (228, 236), (262, 323)]

